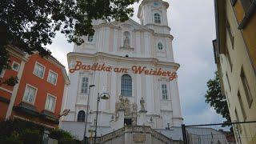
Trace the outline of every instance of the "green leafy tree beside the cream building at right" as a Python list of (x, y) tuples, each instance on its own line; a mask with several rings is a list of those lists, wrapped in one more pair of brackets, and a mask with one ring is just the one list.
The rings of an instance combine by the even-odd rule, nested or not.
[[(214, 110), (218, 114), (222, 114), (223, 118), (226, 118), (224, 123), (231, 122), (230, 112), (226, 102), (226, 96), (222, 95), (220, 80), (218, 72), (215, 72), (214, 79), (210, 79), (207, 82), (208, 90), (206, 91), (206, 102), (210, 103), (210, 106), (214, 107)], [(225, 125), (223, 125), (225, 126)]]

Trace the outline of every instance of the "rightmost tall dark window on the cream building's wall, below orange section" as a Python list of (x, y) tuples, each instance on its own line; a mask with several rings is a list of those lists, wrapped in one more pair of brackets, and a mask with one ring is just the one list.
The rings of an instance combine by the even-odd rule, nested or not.
[(246, 93), (246, 99), (247, 99), (247, 102), (248, 102), (248, 106), (250, 108), (250, 106), (253, 102), (253, 97), (250, 93), (250, 87), (248, 85), (246, 74), (244, 73), (243, 69), (241, 70), (240, 78), (241, 78), (241, 81), (242, 81), (243, 90), (245, 90), (245, 93)]

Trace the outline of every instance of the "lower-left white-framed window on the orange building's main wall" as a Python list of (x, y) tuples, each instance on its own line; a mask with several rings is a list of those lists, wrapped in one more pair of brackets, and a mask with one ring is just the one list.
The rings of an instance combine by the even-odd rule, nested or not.
[(37, 93), (37, 89), (33, 86), (26, 85), (26, 90), (23, 96), (24, 102), (29, 102), (34, 104), (35, 95)]

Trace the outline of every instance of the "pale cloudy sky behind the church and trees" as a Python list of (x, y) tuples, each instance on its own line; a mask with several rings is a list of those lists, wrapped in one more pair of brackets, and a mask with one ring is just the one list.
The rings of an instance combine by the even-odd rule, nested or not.
[[(142, 1), (140, 1), (142, 2)], [(206, 82), (214, 78), (216, 65), (212, 40), (216, 38), (214, 0), (166, 0), (170, 34), (174, 36), (173, 49), (178, 70), (178, 88), (182, 115), (186, 125), (222, 122), (222, 116), (205, 102)], [(135, 3), (137, 18), (139, 3)], [(62, 34), (57, 34), (47, 48), (59, 62), (67, 66), (66, 54), (73, 50)]]

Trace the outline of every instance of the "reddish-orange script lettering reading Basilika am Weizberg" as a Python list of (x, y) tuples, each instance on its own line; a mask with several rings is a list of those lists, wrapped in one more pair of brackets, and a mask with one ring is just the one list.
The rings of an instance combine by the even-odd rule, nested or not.
[[(77, 61), (74, 68), (70, 69), (70, 73), (74, 73), (76, 70), (96, 70), (96, 71), (114, 71), (116, 73), (128, 73), (128, 68), (126, 67), (112, 67), (106, 66), (105, 63), (98, 64), (94, 63), (92, 65), (82, 65), (82, 62)], [(161, 68), (159, 69), (147, 69), (146, 66), (131, 66), (131, 70), (134, 74), (146, 74), (146, 75), (156, 75), (162, 77), (168, 77), (170, 81), (178, 78), (177, 73), (174, 71), (164, 71)]]

